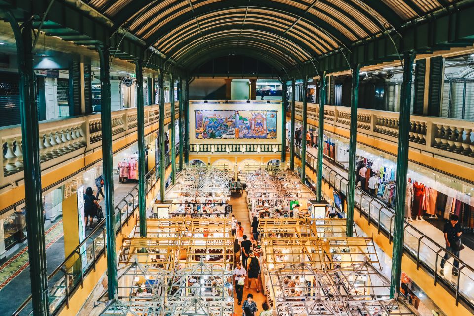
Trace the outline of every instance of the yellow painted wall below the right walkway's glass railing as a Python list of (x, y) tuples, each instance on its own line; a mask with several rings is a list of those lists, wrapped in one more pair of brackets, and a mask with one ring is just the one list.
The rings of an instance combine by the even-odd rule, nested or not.
[[(295, 156), (295, 164), (301, 167), (301, 160)], [(316, 183), (316, 172), (306, 167), (306, 174)], [(332, 196), (333, 188), (326, 181), (322, 181), (322, 191), (327, 196)], [(345, 209), (347, 204), (345, 203)], [(390, 257), (392, 257), (392, 244), (389, 239), (377, 231), (377, 227), (369, 225), (364, 216), (360, 216), (360, 211), (354, 209), (354, 222), (359, 226), (367, 236), (372, 237), (375, 243)], [(448, 316), (471, 315), (471, 313), (462, 305), (456, 306), (455, 298), (446, 291), (439, 283), (434, 286), (433, 277), (428, 275), (423, 269), (416, 269), (416, 263), (406, 255), (403, 255), (401, 269), (410, 277), (435, 304)]]

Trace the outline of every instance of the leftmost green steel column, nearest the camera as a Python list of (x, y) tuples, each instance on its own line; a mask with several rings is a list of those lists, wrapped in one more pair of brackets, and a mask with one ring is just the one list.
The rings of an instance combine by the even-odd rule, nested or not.
[(6, 12), (6, 17), (15, 35), (20, 75), (20, 118), (32, 310), (34, 316), (47, 316), (49, 315), (49, 290), (41, 191), (38, 101), (31, 51), (32, 27), (31, 23), (25, 22), (20, 30), (13, 14)]

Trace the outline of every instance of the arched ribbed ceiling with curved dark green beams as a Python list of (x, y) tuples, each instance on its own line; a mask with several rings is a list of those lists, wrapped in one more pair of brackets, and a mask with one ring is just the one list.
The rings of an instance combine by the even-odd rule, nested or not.
[(85, 0), (192, 70), (231, 53), (286, 71), (387, 30), (399, 32), (456, 0)]

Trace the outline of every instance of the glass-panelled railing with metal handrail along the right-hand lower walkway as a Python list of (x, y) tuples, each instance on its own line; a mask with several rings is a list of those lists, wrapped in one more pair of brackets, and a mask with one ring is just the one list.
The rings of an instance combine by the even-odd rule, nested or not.
[[(295, 146), (295, 155), (301, 158), (301, 148)], [(317, 158), (306, 153), (306, 165), (316, 172)], [(340, 191), (347, 196), (348, 182), (347, 174), (340, 172), (337, 167), (323, 163), (322, 178), (334, 189)], [(371, 224), (377, 227), (377, 231), (383, 232), (392, 241), (394, 236), (394, 209), (387, 207), (379, 199), (370, 196), (360, 188), (355, 187), (355, 206), (360, 211), (360, 216), (368, 219), (369, 226)], [(432, 276), (434, 285), (438, 282), (443, 283), (456, 299), (456, 305), (459, 300), (467, 303), (474, 308), (474, 292), (472, 284), (474, 282), (474, 268), (460, 258), (454, 256), (445, 247), (427, 237), (413, 225), (405, 221), (404, 223), (404, 251), (411, 259), (416, 262), (416, 267), (422, 267), (428, 275)], [(450, 274), (443, 275), (439, 271), (439, 264), (444, 253), (450, 253), (457, 261), (459, 261), (458, 277)], [(446, 261), (445, 269), (453, 267), (453, 263)]]

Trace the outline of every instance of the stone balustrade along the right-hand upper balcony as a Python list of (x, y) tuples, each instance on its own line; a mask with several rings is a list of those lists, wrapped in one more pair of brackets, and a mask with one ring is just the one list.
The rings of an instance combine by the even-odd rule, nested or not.
[[(295, 109), (301, 109), (302, 102), (295, 102)], [(297, 113), (297, 112), (296, 112)], [(318, 105), (308, 103), (308, 118), (317, 118)], [(399, 113), (369, 109), (358, 109), (358, 132), (397, 142)], [(349, 129), (351, 109), (343, 106), (324, 106), (326, 124)], [(410, 147), (434, 155), (453, 158), (474, 165), (474, 122), (427, 116), (410, 116)]]

